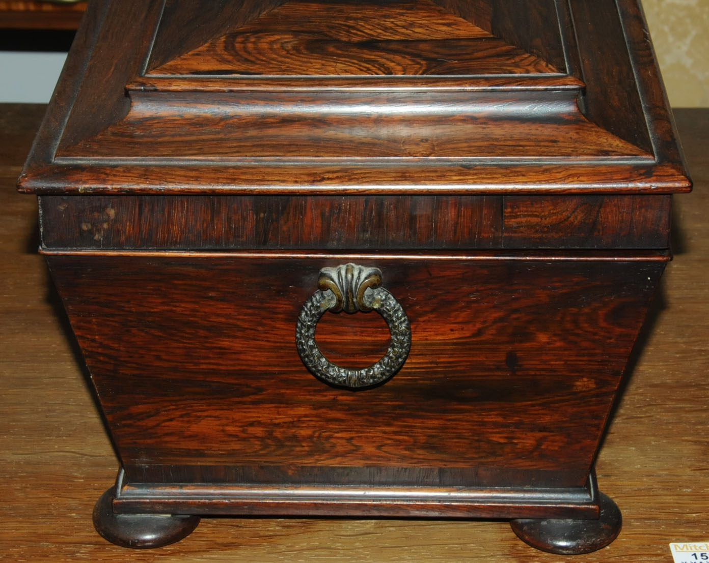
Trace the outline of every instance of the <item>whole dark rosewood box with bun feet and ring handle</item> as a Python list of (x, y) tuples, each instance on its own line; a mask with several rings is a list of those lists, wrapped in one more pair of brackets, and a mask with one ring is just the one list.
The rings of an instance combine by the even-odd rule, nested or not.
[(199, 516), (611, 542), (593, 462), (691, 188), (636, 0), (94, 0), (19, 189), (121, 469)]

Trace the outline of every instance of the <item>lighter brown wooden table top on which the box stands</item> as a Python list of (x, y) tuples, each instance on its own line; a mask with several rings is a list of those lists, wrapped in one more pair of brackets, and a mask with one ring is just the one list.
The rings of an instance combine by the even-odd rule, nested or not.
[(676, 111), (695, 190), (675, 198), (675, 260), (596, 466), (623, 530), (573, 558), (485, 521), (203, 518), (158, 550), (99, 538), (91, 511), (118, 462), (37, 254), (35, 198), (15, 192), (43, 110), (0, 105), (0, 554), (9, 561), (647, 563), (671, 562), (670, 542), (709, 540), (709, 109)]

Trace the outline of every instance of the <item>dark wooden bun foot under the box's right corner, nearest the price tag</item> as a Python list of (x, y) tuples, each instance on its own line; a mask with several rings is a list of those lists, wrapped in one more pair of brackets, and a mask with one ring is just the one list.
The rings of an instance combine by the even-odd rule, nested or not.
[(524, 519), (510, 521), (510, 526), (521, 540), (537, 550), (559, 555), (590, 553), (615, 540), (623, 524), (618, 505), (610, 497), (599, 493), (598, 501), (598, 520)]

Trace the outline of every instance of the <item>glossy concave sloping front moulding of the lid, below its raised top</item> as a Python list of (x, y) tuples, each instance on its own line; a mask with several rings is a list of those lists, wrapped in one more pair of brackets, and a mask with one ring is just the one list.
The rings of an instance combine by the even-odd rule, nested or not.
[(574, 93), (564, 91), (422, 92), (413, 98), (410, 93), (133, 93), (131, 101), (125, 119), (61, 149), (57, 157), (362, 162), (363, 154), (606, 161), (650, 156), (586, 120)]

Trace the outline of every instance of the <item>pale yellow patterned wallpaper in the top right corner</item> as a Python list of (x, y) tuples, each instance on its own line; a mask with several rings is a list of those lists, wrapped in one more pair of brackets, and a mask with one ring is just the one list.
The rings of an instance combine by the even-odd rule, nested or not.
[(709, 0), (642, 0), (674, 108), (709, 107)]

